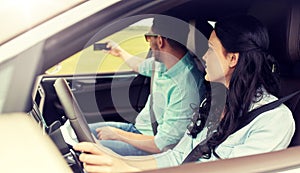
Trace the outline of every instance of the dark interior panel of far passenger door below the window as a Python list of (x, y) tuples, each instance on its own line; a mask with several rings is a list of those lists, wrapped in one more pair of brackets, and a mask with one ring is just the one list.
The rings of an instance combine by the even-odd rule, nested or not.
[[(98, 121), (134, 122), (149, 94), (149, 78), (135, 73), (59, 76), (67, 79), (89, 123)], [(47, 95), (43, 114), (48, 124), (64, 118), (63, 109), (53, 89), (58, 76), (44, 76), (41, 86)], [(58, 116), (58, 117), (57, 117)]]

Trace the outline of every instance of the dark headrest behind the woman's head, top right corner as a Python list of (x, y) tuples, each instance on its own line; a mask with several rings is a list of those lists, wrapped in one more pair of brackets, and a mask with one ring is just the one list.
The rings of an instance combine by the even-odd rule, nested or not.
[(248, 13), (257, 17), (267, 26), (270, 35), (271, 54), (278, 60), (280, 65), (299, 63), (299, 1), (274, 0), (257, 2), (254, 3)]

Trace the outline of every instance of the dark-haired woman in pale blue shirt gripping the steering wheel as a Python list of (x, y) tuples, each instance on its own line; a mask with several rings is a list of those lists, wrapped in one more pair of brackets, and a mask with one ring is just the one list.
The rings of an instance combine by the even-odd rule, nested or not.
[[(291, 111), (285, 106), (263, 112), (235, 131), (239, 120), (257, 107), (277, 100), (277, 64), (267, 52), (266, 28), (251, 16), (232, 16), (219, 21), (209, 38), (203, 59), (205, 79), (227, 88), (219, 118), (207, 118), (198, 134), (188, 132), (173, 149), (148, 157), (120, 157), (97, 144), (74, 146), (88, 172), (129, 172), (182, 164), (199, 143), (205, 144), (199, 162), (259, 154), (286, 148), (295, 131)], [(212, 93), (213, 94), (213, 93)], [(201, 122), (203, 123), (203, 121)]]

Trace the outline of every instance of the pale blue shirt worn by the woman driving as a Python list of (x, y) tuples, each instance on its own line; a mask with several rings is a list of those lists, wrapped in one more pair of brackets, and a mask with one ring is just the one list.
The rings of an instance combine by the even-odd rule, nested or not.
[[(250, 110), (276, 99), (265, 92), (263, 98), (257, 103), (253, 103)], [(294, 132), (293, 115), (282, 104), (273, 110), (262, 113), (248, 125), (231, 134), (216, 148), (216, 153), (226, 159), (284, 149), (288, 147)], [(180, 165), (192, 149), (206, 138), (206, 134), (206, 128), (195, 139), (185, 134), (173, 150), (153, 155), (158, 168)], [(199, 162), (213, 160), (217, 160), (217, 158), (212, 154), (210, 159), (199, 159)]]

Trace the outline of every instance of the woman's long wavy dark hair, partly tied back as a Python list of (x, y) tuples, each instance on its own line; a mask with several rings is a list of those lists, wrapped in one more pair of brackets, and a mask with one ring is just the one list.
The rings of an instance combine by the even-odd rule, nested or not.
[(239, 53), (239, 59), (229, 83), (224, 117), (207, 141), (213, 153), (247, 115), (251, 103), (261, 99), (261, 87), (275, 96), (279, 92), (277, 63), (268, 53), (268, 32), (260, 21), (248, 15), (228, 17), (215, 24), (215, 33), (225, 50)]

